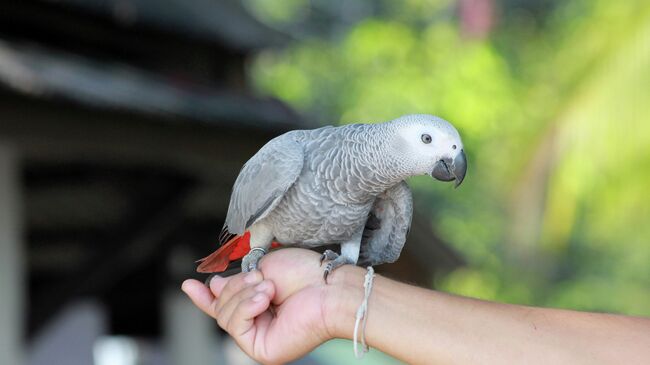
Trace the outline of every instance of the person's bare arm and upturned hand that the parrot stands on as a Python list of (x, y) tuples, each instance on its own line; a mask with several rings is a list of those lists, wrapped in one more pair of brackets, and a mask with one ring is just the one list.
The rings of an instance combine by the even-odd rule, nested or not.
[[(263, 281), (252, 272), (215, 277), (209, 288), (187, 280), (183, 290), (251, 357), (286, 363), (330, 338), (353, 335), (365, 270), (342, 266), (326, 284), (318, 258), (312, 251), (283, 249), (262, 260)], [(369, 345), (410, 364), (641, 364), (650, 359), (650, 319), (487, 302), (381, 276), (367, 315)]]

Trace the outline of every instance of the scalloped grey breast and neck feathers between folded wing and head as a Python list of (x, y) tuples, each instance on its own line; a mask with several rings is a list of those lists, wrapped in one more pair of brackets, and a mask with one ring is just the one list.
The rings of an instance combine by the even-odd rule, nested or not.
[(377, 152), (359, 140), (364, 127), (291, 132), (305, 147), (305, 163), (294, 185), (263, 219), (278, 242), (341, 243), (363, 229), (375, 197), (386, 190), (360, 159)]

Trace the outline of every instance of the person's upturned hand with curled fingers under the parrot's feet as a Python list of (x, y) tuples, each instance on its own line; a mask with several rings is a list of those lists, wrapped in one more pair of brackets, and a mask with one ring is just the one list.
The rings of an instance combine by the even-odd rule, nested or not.
[(261, 260), (261, 273), (215, 276), (210, 288), (186, 280), (182, 288), (250, 357), (265, 364), (285, 363), (336, 336), (333, 319), (342, 316), (338, 309), (346, 298), (341, 295), (345, 277), (358, 269), (340, 267), (325, 284), (318, 260), (309, 250), (277, 250)]

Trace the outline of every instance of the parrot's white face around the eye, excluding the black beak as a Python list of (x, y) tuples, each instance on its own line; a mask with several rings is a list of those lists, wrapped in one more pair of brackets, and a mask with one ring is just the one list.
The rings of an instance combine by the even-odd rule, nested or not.
[(448, 122), (429, 115), (397, 120), (397, 134), (400, 152), (420, 174), (430, 173), (435, 163), (443, 158), (453, 160), (463, 149), (456, 129)]

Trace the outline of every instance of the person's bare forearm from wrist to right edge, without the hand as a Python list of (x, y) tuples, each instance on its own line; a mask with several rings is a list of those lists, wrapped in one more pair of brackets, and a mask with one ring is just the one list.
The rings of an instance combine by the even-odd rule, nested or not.
[[(328, 317), (351, 338), (363, 298), (361, 268), (342, 273)], [(368, 343), (409, 363), (641, 363), (650, 358), (650, 320), (532, 308), (464, 298), (375, 279)]]

